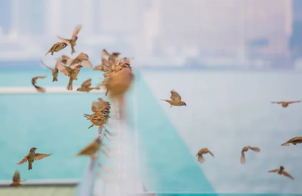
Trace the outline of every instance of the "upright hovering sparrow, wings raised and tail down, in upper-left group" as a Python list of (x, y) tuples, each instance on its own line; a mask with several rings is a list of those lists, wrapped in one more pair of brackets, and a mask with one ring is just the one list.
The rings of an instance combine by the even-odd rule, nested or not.
[(68, 85), (66, 87), (67, 90), (72, 90), (72, 81), (73, 80), (78, 80), (77, 76), (80, 73), (81, 68), (83, 67), (82, 65), (77, 65), (74, 68), (71, 67), (67, 67), (63, 64), (61, 64), (60, 62), (57, 61), (56, 65), (57, 69), (63, 73), (64, 75), (66, 75), (67, 77), (69, 77), (69, 82)]

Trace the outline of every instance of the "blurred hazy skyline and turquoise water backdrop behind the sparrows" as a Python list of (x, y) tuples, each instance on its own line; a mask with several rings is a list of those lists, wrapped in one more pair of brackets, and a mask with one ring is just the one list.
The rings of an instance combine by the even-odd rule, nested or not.
[[(20, 89), (32, 87), (37, 75), (48, 76), (38, 80), (46, 89), (65, 88), (68, 78), (60, 73), (51, 82), (41, 59), (54, 67), (62, 54), (85, 52), (98, 65), (105, 48), (134, 57), (128, 112), (138, 129), (139, 170), (148, 191), (302, 193), (302, 145), (280, 146), (301, 136), (302, 105), (270, 103), (302, 99), (301, 11), (300, 0), (0, 1), (0, 152), (6, 156), (0, 178), (11, 180), (16, 169), (26, 179), (83, 178), (87, 159), (69, 155), (95, 138), (83, 113), (105, 95)], [(71, 38), (78, 24), (77, 53), (70, 55), (67, 46), (44, 57), (57, 35)], [(96, 85), (103, 77), (83, 68), (78, 78), (74, 86), (88, 78)], [(160, 101), (171, 89), (187, 107)], [(248, 151), (242, 165), (247, 145), (261, 152)], [(31, 171), (16, 166), (33, 146), (54, 155)], [(205, 147), (215, 157), (206, 154), (201, 165), (195, 155)], [(280, 165), (295, 179), (267, 172)]]

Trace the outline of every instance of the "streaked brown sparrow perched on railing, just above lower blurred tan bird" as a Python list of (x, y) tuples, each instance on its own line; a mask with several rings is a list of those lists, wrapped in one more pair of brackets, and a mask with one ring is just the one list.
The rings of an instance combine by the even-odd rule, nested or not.
[(108, 104), (103, 106), (101, 110), (95, 112), (92, 115), (84, 114), (84, 117), (86, 117), (87, 120), (90, 120), (90, 122), (92, 123), (89, 128), (93, 126), (99, 126), (99, 128), (103, 128), (104, 125), (107, 123), (108, 119), (110, 118), (109, 113), (110, 105)]

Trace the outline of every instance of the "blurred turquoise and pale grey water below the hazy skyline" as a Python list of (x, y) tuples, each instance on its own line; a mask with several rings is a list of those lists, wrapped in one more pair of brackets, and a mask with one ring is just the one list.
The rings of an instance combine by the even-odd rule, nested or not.
[[(0, 86), (31, 86), (31, 77), (45, 74), (48, 78), (38, 80), (38, 85), (67, 85), (68, 78), (62, 74), (59, 82), (51, 82), (49, 70), (30, 68), (0, 70)], [(134, 94), (130, 91), (129, 118), (133, 125), (131, 108), (137, 104), (141, 178), (149, 191), (302, 191), (300, 146), (280, 147), (289, 138), (300, 136), (302, 106), (283, 109), (270, 104), (300, 99), (300, 74), (143, 71), (135, 76), (138, 103), (131, 102)], [(73, 85), (90, 77), (93, 85), (103, 78), (102, 72), (83, 69)], [(159, 101), (169, 98), (172, 88), (187, 107), (169, 108)], [(96, 136), (96, 129), (87, 129), (90, 122), (83, 113), (90, 113), (91, 103), (98, 97), (104, 94), (0, 94), (1, 178), (11, 179), (16, 169), (26, 179), (82, 177), (88, 159), (71, 157)], [(241, 165), (244, 145), (258, 146), (262, 151), (248, 152), (247, 163)], [(26, 164), (16, 163), (31, 147), (54, 154), (35, 161), (34, 169), (28, 171)], [(202, 147), (212, 150), (215, 157), (206, 156), (200, 165), (194, 156)], [(281, 164), (295, 180), (267, 173)]]

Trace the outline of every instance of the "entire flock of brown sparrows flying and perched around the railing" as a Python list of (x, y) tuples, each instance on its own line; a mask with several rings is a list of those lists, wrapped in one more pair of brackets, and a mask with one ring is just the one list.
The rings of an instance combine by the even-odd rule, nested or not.
[[(45, 54), (45, 56), (49, 53), (51, 55), (54, 54), (54, 52), (59, 52), (62, 49), (64, 49), (68, 44), (71, 46), (71, 55), (75, 53), (74, 46), (76, 45), (76, 41), (78, 40), (78, 34), (81, 30), (82, 26), (78, 25), (75, 27), (71, 39), (64, 39), (61, 37), (58, 37), (63, 42), (57, 42), (55, 43)], [(67, 90), (73, 90), (72, 82), (73, 80), (78, 80), (78, 75), (80, 73), (80, 70), (82, 67), (86, 68), (93, 68), (93, 70), (101, 70), (103, 71), (104, 79), (102, 83), (100, 83), (96, 87), (91, 87), (91, 78), (84, 81), (77, 89), (77, 91), (84, 91), (89, 92), (91, 90), (99, 90), (101, 86), (104, 86), (106, 88), (106, 94), (107, 96), (109, 94), (109, 97), (114, 102), (118, 103), (118, 107), (123, 108), (124, 103), (124, 94), (127, 92), (127, 90), (130, 88), (132, 80), (133, 80), (133, 74), (132, 74), (132, 68), (130, 66), (130, 59), (127, 57), (124, 57), (122, 59), (118, 59), (118, 56), (120, 53), (114, 52), (109, 53), (105, 49), (102, 50), (102, 64), (95, 66), (93, 68), (93, 65), (89, 61), (89, 56), (83, 52), (81, 52), (78, 56), (71, 59), (70, 57), (66, 55), (62, 55), (60, 58), (57, 59), (55, 67), (51, 68), (47, 65), (45, 65), (42, 61), (42, 64), (49, 68), (51, 70), (53, 79), (52, 81), (58, 81), (58, 73), (61, 72), (65, 76), (69, 77), (69, 82), (67, 84), (66, 89)], [(108, 56), (108, 59), (105, 58), (105, 56)], [(133, 59), (133, 58), (132, 58)], [(132, 60), (131, 59), (131, 60)], [(36, 82), (38, 78), (45, 78), (46, 76), (36, 76), (32, 78), (32, 84), (37, 89), (38, 92), (45, 92), (45, 88), (37, 86)], [(185, 102), (181, 101), (181, 96), (176, 90), (171, 90), (171, 96), (170, 100), (163, 100), (170, 104), (170, 108), (172, 106), (187, 106)], [(301, 101), (294, 101), (294, 102), (272, 102), (275, 104), (281, 104), (283, 108), (288, 107), (289, 104), (297, 103)], [(110, 103), (104, 101), (103, 99), (99, 98), (97, 102), (92, 103), (91, 111), (93, 114), (88, 115), (84, 114), (84, 117), (87, 118), (87, 120), (90, 120), (93, 126), (98, 126), (99, 128), (104, 127), (104, 125), (107, 123), (108, 119), (110, 118)], [(88, 129), (89, 129), (88, 128)], [(302, 137), (295, 137), (284, 144), (281, 144), (281, 146), (288, 146), (289, 144), (296, 145), (297, 143), (302, 143)], [(97, 137), (92, 143), (90, 143), (88, 146), (86, 146), (81, 152), (79, 152), (75, 156), (81, 156), (86, 155), (90, 156), (92, 159), (95, 159), (95, 154), (98, 152), (101, 144), (101, 138)], [(245, 146), (243, 147), (241, 151), (241, 163), (244, 164), (246, 162), (245, 158), (245, 152), (247, 152), (249, 149), (260, 152), (260, 149), (257, 147), (251, 147), (251, 146)], [(45, 157), (50, 156), (51, 154), (41, 154), (36, 153), (37, 148), (32, 147), (29, 151), (29, 154), (24, 156), (24, 158), (19, 161), (17, 164), (24, 164), (28, 162), (28, 170), (32, 169), (32, 164), (34, 161), (41, 160)], [(213, 157), (213, 153), (208, 148), (202, 148), (198, 151), (196, 154), (197, 160), (200, 163), (204, 163), (205, 159), (203, 157), (203, 154), (211, 154)], [(294, 179), (288, 172), (284, 170), (283, 166), (280, 166), (280, 168), (270, 170), (268, 172), (277, 172), (278, 174), (283, 174), (291, 179)], [(24, 181), (24, 180), (23, 180)], [(14, 176), (13, 176), (13, 183), (11, 183), (11, 186), (18, 187), (21, 184), (21, 178), (20, 178), (20, 172), (16, 170)]]

